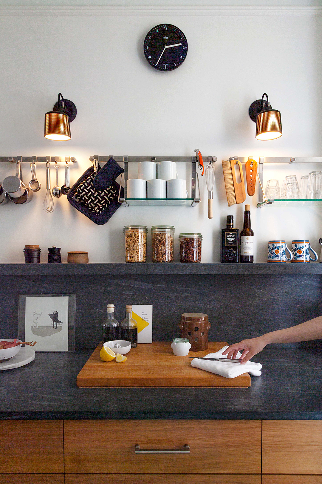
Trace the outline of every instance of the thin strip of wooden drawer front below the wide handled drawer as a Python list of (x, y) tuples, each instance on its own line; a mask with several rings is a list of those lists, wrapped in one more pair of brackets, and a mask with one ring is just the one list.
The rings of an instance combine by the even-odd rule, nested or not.
[(66, 474), (65, 477), (65, 484), (261, 484), (261, 482), (261, 475), (254, 474)]

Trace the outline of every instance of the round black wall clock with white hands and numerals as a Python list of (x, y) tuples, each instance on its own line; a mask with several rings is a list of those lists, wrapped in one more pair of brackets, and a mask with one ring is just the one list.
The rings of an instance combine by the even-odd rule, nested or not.
[(159, 71), (177, 69), (187, 56), (188, 43), (184, 33), (175, 25), (157, 25), (144, 39), (144, 55)]

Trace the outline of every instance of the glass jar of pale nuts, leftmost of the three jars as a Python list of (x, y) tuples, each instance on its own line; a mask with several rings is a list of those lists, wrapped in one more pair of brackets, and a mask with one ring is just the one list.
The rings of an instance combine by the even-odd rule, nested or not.
[(145, 262), (148, 227), (145, 225), (126, 225), (123, 232), (125, 236), (125, 261)]

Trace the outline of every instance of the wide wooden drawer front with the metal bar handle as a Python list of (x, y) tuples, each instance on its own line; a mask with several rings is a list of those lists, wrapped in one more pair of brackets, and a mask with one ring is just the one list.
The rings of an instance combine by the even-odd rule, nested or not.
[[(135, 454), (183, 449), (190, 454)], [(67, 420), (66, 473), (259, 474), (259, 420)]]

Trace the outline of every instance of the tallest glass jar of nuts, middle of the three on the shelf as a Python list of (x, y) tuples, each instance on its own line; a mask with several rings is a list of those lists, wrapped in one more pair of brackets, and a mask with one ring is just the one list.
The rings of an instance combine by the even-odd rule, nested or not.
[(174, 227), (154, 225), (151, 227), (152, 261), (173, 262)]

